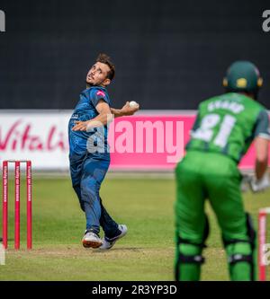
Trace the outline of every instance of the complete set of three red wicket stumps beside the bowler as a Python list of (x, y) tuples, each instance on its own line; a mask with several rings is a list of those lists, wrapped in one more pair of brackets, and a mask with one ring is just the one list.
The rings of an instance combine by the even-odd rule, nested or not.
[(7, 249), (8, 232), (8, 163), (14, 163), (14, 249), (20, 249), (20, 187), (21, 163), (26, 163), (27, 249), (31, 249), (31, 161), (3, 161), (3, 246)]

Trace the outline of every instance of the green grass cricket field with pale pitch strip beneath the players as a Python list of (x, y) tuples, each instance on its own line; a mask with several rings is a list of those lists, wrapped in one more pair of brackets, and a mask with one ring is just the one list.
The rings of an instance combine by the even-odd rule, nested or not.
[[(10, 189), (11, 212), (13, 182)], [(0, 280), (173, 280), (175, 181), (107, 178), (101, 195), (114, 218), (129, 227), (127, 236), (107, 252), (86, 250), (81, 245), (85, 216), (70, 180), (35, 177), (33, 250), (25, 250), (26, 205), (22, 198), (22, 250), (13, 249), (14, 214), (10, 213), (9, 249), (5, 252), (5, 265), (0, 266)], [(257, 211), (270, 206), (270, 192), (256, 196), (246, 193), (244, 198), (257, 225)], [(207, 211), (211, 234), (204, 251), (202, 280), (228, 280), (220, 231), (209, 206)]]

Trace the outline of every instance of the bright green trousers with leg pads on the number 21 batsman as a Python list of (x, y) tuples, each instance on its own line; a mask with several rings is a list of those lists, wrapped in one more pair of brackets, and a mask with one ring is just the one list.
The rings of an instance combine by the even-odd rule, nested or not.
[(231, 280), (256, 277), (256, 233), (245, 213), (237, 163), (225, 154), (188, 151), (177, 164), (175, 280), (199, 280), (209, 234), (208, 199), (220, 225)]

